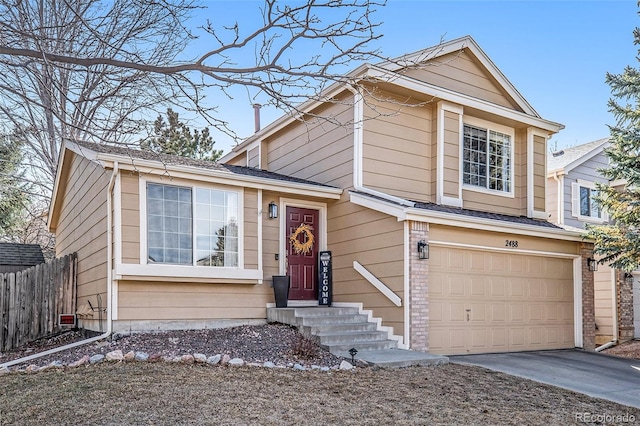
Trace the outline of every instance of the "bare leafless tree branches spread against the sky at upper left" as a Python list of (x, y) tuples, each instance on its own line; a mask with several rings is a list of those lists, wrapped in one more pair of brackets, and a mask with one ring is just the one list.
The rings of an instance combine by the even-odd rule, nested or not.
[[(32, 177), (49, 188), (60, 141), (135, 144), (172, 105), (239, 140), (217, 113), (223, 100), (206, 95), (244, 87), (252, 102), (297, 111), (355, 62), (382, 59), (372, 16), (384, 3), (265, 0), (259, 28), (190, 29), (207, 11), (195, 0), (0, 0), (0, 126), (25, 138)], [(197, 31), (211, 48), (185, 59)]]

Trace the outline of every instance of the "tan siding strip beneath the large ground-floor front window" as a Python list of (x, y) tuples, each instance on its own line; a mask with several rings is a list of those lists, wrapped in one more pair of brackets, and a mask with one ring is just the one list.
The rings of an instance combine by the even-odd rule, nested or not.
[(118, 320), (264, 319), (269, 285), (121, 281)]

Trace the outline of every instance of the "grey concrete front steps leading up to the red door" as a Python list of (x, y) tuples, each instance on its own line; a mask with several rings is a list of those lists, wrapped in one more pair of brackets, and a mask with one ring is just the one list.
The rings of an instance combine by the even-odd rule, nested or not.
[(338, 356), (351, 348), (358, 352), (398, 348), (396, 340), (389, 339), (386, 331), (378, 330), (377, 324), (355, 307), (267, 308), (267, 321), (293, 325), (303, 336)]

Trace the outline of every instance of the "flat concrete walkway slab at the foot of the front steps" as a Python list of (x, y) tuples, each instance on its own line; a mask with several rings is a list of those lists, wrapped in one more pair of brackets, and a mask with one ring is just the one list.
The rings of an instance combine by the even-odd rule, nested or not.
[[(351, 355), (348, 352), (341, 352), (336, 355), (351, 361)], [(356, 354), (355, 359), (356, 361), (359, 359), (366, 361), (369, 365), (380, 368), (403, 368), (449, 363), (449, 358), (446, 356), (403, 349), (363, 350)]]

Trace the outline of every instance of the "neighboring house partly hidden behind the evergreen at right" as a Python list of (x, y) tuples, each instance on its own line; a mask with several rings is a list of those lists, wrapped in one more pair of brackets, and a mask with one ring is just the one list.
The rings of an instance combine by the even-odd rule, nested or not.
[[(547, 208), (553, 223), (584, 232), (587, 224), (608, 222), (606, 210), (594, 199), (597, 183), (610, 184), (599, 171), (608, 167), (604, 152), (608, 146), (609, 139), (604, 138), (547, 155)], [(594, 274), (597, 345), (634, 337), (633, 309), (627, 302), (633, 294), (627, 278), (606, 264), (598, 265)]]

